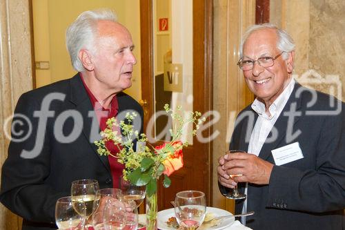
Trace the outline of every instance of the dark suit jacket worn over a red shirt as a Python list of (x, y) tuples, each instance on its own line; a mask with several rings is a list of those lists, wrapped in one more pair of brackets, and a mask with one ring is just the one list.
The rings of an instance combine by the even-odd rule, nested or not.
[[(117, 99), (118, 117), (134, 110), (142, 124), (141, 106), (125, 93), (117, 94)], [(37, 112), (48, 109), (49, 113)], [(100, 156), (93, 144), (99, 139), (99, 124), (79, 74), (24, 93), (14, 113), (8, 159), (2, 167), (0, 199), (23, 217), (23, 229), (54, 229), (55, 203), (70, 195), (73, 180), (92, 178), (98, 180), (100, 188), (112, 187), (108, 157)], [(31, 132), (16, 114), (28, 118)], [(24, 122), (19, 124), (19, 120)], [(31, 135), (16, 142), (19, 131)], [(40, 143), (43, 146), (37, 148)], [(23, 149), (34, 153), (21, 156)]]

